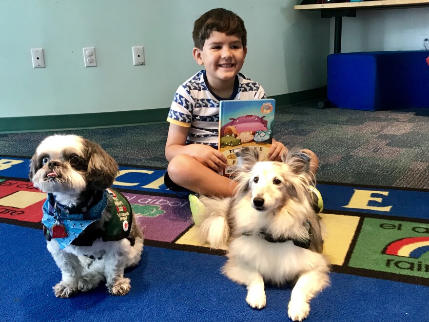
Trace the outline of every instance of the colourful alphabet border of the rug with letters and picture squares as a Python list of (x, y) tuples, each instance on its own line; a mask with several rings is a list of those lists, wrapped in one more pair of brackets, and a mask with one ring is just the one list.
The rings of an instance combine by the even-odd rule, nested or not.
[[(46, 195), (28, 180), (29, 161), (0, 156), (0, 222), (42, 229)], [(225, 254), (199, 241), (189, 201), (163, 184), (165, 169), (120, 164), (119, 170), (113, 187), (130, 201), (146, 245)], [(328, 182), (317, 188), (324, 253), (334, 272), (429, 286), (429, 190)]]

